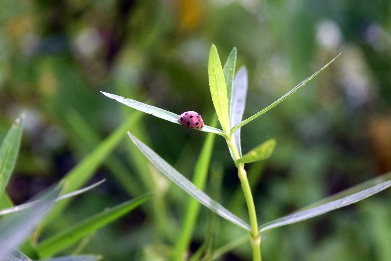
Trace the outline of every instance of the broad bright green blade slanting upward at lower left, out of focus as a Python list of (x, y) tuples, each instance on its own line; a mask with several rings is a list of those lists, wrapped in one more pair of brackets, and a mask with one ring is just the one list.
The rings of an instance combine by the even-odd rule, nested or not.
[(107, 208), (104, 211), (68, 227), (56, 235), (42, 241), (37, 245), (36, 251), (40, 257), (53, 256), (68, 246), (73, 245), (83, 237), (88, 236), (91, 232), (94, 232), (119, 217), (124, 216), (145, 200), (151, 198), (151, 196), (152, 193), (147, 193), (113, 208)]

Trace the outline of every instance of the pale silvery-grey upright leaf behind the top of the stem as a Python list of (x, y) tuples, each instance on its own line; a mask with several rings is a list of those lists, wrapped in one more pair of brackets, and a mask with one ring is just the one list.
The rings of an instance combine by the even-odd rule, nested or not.
[[(232, 104), (231, 104), (231, 127), (240, 123), (243, 119), (244, 108), (246, 107), (246, 96), (248, 89), (248, 76), (246, 66), (240, 67), (239, 71), (235, 75), (232, 88)], [(242, 157), (242, 145), (240, 142), (240, 128), (233, 133), (235, 144), (239, 152), (239, 156)], [(231, 152), (231, 149), (230, 149)], [(231, 152), (233, 160), (233, 154)]]

